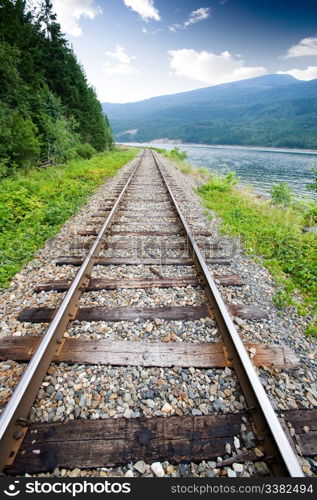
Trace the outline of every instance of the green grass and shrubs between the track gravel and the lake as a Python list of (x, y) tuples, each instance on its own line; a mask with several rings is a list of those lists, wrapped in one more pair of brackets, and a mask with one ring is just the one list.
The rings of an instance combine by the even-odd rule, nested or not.
[[(215, 176), (198, 193), (222, 218), (223, 232), (240, 235), (246, 252), (261, 257), (275, 277), (275, 304), (294, 304), (301, 313), (316, 314), (317, 236), (304, 227), (317, 221), (317, 200), (291, 203), (287, 185), (275, 186), (273, 199), (263, 200), (233, 187), (235, 183), (233, 173)], [(317, 334), (317, 324), (307, 334)]]

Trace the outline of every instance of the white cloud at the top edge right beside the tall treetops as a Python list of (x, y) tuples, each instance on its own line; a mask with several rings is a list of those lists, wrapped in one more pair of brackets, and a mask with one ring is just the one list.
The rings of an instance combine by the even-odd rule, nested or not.
[(94, 19), (102, 13), (101, 8), (95, 4), (94, 0), (52, 0), (52, 3), (62, 30), (73, 36), (82, 34), (82, 29), (79, 26), (81, 17)]

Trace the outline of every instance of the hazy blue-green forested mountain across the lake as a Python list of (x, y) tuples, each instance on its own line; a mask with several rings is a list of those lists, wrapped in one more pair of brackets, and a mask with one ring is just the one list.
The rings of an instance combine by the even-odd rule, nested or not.
[(317, 79), (265, 75), (103, 109), (122, 142), (317, 148)]

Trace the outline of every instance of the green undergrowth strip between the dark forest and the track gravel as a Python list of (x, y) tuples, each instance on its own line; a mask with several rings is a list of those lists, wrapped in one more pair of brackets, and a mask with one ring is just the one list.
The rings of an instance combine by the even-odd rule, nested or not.
[(33, 168), (0, 181), (0, 286), (60, 226), (82, 207), (95, 188), (130, 161), (137, 149), (99, 153), (59, 167)]

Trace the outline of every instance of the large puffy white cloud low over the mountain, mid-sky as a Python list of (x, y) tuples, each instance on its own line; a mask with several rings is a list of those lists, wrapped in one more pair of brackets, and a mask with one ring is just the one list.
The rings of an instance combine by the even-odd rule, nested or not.
[(169, 50), (170, 67), (174, 74), (209, 85), (254, 78), (267, 73), (262, 66), (245, 66), (242, 59), (235, 59), (227, 50), (219, 55), (205, 50)]

